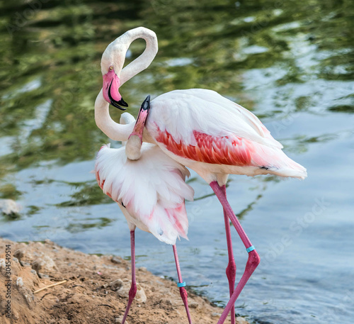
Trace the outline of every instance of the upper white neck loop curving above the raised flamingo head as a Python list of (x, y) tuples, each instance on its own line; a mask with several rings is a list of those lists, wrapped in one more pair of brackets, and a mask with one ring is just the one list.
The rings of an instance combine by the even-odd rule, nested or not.
[(122, 69), (122, 72), (120, 72), (120, 86), (122, 86), (122, 84), (127, 82), (129, 79), (134, 77), (139, 72), (142, 72), (142, 70), (149, 67), (149, 65), (154, 60), (157, 51), (159, 50), (159, 47), (157, 45), (156, 34), (152, 30), (149, 30), (147, 28), (144, 27), (134, 28), (132, 30), (127, 31), (127, 33), (125, 33), (122, 36), (124, 36), (127, 49), (129, 48), (130, 44), (138, 38), (144, 39), (145, 42), (147, 43), (147, 47), (145, 48), (142, 55), (137, 57), (137, 59), (135, 59), (124, 69)]

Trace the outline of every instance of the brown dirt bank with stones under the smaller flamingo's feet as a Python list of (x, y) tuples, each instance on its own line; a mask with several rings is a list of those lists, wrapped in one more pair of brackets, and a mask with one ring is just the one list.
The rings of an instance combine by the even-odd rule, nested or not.
[[(6, 317), (6, 246), (11, 255), (10, 318)], [(112, 255), (87, 255), (50, 240), (19, 243), (0, 238), (0, 247), (1, 323), (121, 323), (130, 289), (130, 262)], [(137, 296), (127, 324), (188, 323), (176, 282), (144, 267), (136, 274)], [(191, 291), (188, 303), (193, 324), (217, 323), (222, 313), (222, 308)], [(225, 324), (229, 323), (227, 318)], [(236, 324), (247, 323), (236, 318)]]

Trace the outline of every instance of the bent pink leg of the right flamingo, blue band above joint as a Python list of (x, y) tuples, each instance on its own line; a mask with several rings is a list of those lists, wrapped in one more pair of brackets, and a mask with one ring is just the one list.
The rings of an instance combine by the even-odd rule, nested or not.
[(239, 297), (239, 294), (241, 294), (241, 291), (242, 289), (244, 289), (244, 286), (246, 285), (247, 281), (249, 281), (249, 278), (253, 274), (254, 270), (256, 269), (256, 267), (258, 267), (258, 264), (260, 262), (260, 257), (256, 252), (256, 250), (254, 250), (251, 241), (247, 237), (244, 229), (239, 223), (239, 220), (236, 218), (234, 211), (232, 211), (232, 208), (229, 202), (227, 201), (226, 196), (222, 192), (222, 188), (220, 188), (217, 181), (212, 181), (210, 183), (210, 186), (212, 187), (212, 190), (215, 192), (215, 195), (217, 196), (220, 203), (224, 207), (224, 211), (226, 211), (227, 216), (229, 216), (230, 220), (232, 221), (232, 224), (234, 225), (236, 232), (239, 234), (239, 237), (241, 238), (242, 242), (244, 243), (244, 246), (246, 247), (246, 251), (249, 252), (249, 258), (247, 259), (244, 274), (241, 276), (241, 280), (239, 281), (239, 284), (237, 284), (234, 293), (232, 294), (229, 302), (227, 303), (227, 306), (225, 307), (224, 311), (222, 312), (222, 315), (220, 316), (217, 322), (217, 324), (222, 324), (226, 320), (229, 311), (231, 311), (236, 299)]

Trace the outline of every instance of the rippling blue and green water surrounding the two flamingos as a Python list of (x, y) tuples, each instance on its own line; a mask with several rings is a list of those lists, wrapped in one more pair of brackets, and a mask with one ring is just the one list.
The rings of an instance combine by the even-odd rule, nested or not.
[[(159, 54), (121, 89), (131, 113), (147, 94), (214, 89), (256, 113), (308, 169), (305, 181), (230, 177), (229, 201), (261, 255), (236, 312), (263, 324), (353, 323), (354, 4), (201, 2), (0, 2), (0, 192), (24, 207), (1, 216), (0, 235), (129, 257), (125, 219), (90, 173), (108, 142), (93, 102), (106, 45), (146, 26)], [(143, 49), (137, 40), (127, 60)], [(224, 305), (222, 209), (196, 174), (190, 185), (183, 276)], [(233, 238), (239, 279), (247, 256)], [(141, 231), (137, 265), (176, 279), (171, 247)]]

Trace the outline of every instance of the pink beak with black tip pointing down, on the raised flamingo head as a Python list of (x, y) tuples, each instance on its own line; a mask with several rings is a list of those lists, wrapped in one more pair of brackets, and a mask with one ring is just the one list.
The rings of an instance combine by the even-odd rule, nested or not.
[(120, 80), (114, 69), (103, 75), (103, 98), (115, 108), (125, 111), (127, 109), (121, 106), (127, 107), (128, 104), (122, 99), (118, 91), (119, 86)]

